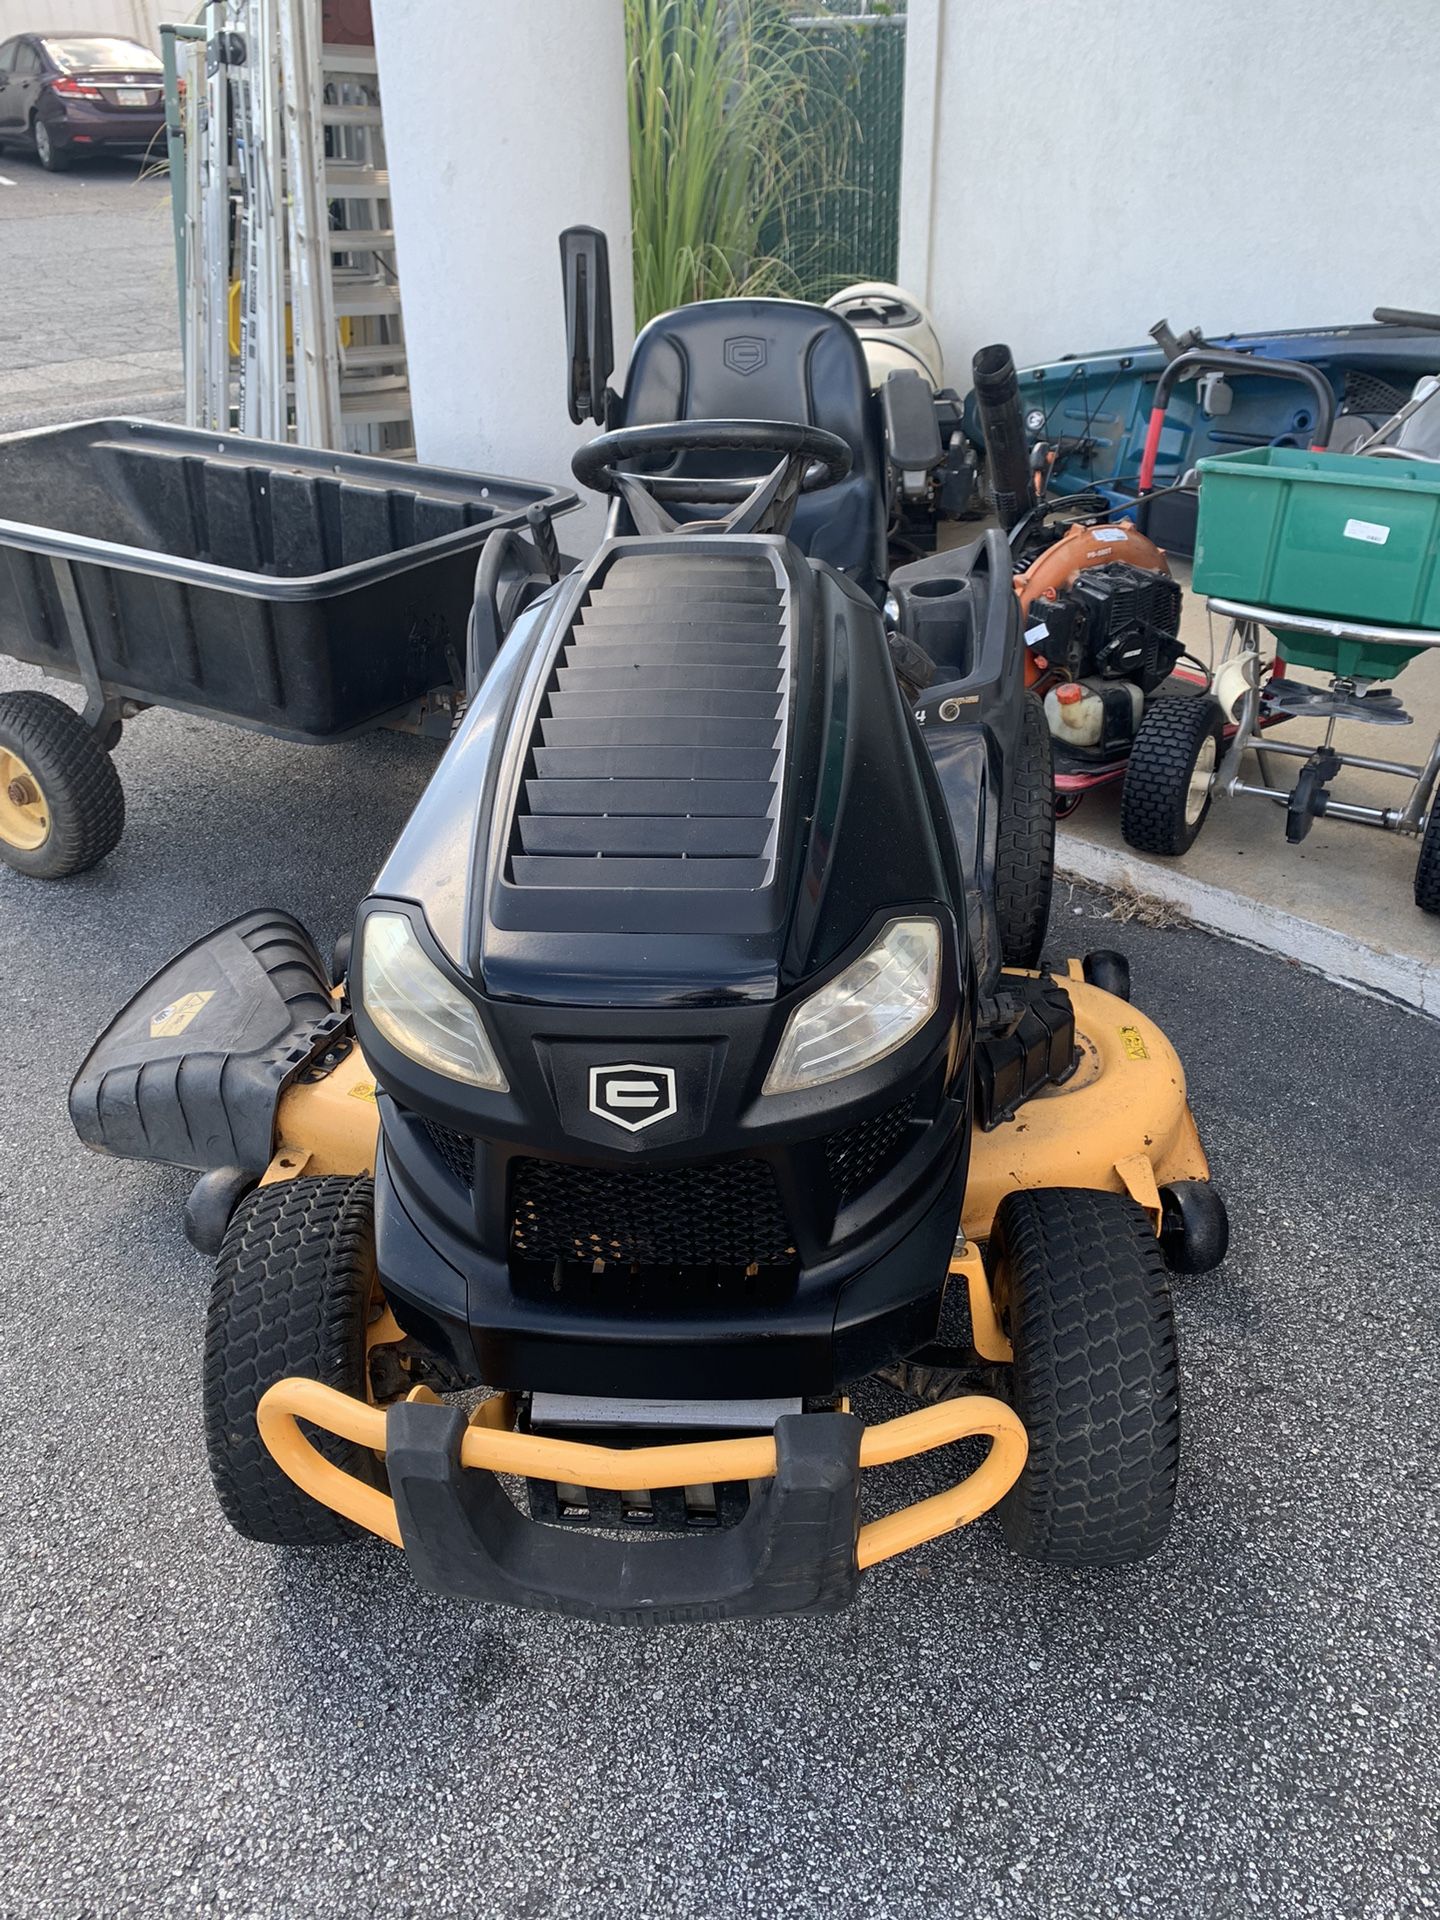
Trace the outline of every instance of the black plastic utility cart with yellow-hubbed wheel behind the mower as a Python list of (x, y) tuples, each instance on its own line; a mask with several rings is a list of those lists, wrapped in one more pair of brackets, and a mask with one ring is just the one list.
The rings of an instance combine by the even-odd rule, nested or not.
[(86, 420), (0, 436), (0, 653), (84, 710), (0, 693), (0, 860), (56, 879), (125, 826), (109, 760), (146, 707), (294, 741), (447, 737), (480, 549), (559, 572), (568, 490), (232, 434)]

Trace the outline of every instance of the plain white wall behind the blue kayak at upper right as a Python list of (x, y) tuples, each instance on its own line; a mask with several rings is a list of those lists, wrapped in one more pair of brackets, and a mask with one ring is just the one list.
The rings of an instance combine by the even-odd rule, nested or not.
[(1440, 309), (1440, 0), (910, 0), (900, 280), (947, 376)]

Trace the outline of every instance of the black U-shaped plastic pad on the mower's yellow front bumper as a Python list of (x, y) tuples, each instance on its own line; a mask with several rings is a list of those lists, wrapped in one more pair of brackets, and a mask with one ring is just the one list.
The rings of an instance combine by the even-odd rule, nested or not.
[(860, 1434), (851, 1413), (776, 1421), (776, 1476), (735, 1526), (687, 1538), (588, 1536), (526, 1519), (495, 1475), (461, 1467), (459, 1407), (386, 1415), (386, 1475), (411, 1572), (461, 1599), (616, 1626), (837, 1613), (860, 1572)]

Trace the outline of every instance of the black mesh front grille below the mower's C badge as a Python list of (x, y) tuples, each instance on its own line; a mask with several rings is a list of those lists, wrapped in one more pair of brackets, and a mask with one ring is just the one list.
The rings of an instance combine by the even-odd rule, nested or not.
[(511, 1244), (522, 1260), (636, 1267), (774, 1267), (795, 1260), (764, 1160), (614, 1169), (516, 1160), (511, 1183)]

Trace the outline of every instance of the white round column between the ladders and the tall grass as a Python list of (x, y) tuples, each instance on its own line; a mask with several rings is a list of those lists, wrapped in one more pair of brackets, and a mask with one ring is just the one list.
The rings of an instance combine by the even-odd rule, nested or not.
[[(374, 0), (417, 451), (570, 482), (599, 428), (566, 413), (563, 227), (611, 238), (614, 349), (634, 330), (620, 0)], [(597, 507), (561, 541), (599, 536)]]

